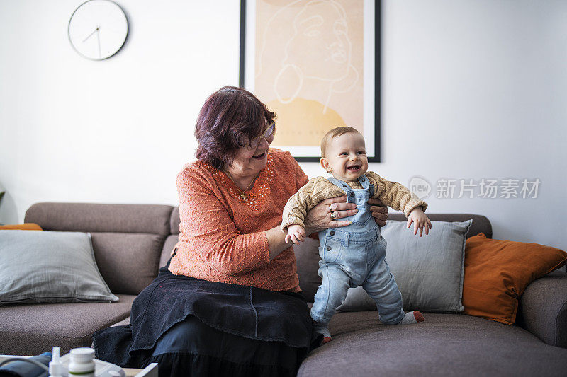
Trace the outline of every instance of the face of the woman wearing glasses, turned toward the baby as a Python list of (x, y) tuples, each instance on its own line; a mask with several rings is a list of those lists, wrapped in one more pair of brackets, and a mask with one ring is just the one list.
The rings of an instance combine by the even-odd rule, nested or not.
[[(268, 127), (268, 124), (264, 124), (262, 131), (265, 131)], [(236, 152), (232, 165), (227, 167), (230, 174), (236, 178), (237, 176), (247, 177), (259, 173), (268, 162), (268, 149), (272, 141), (274, 141), (273, 132), (267, 138), (260, 137), (259, 143), (255, 147), (240, 147)]]

